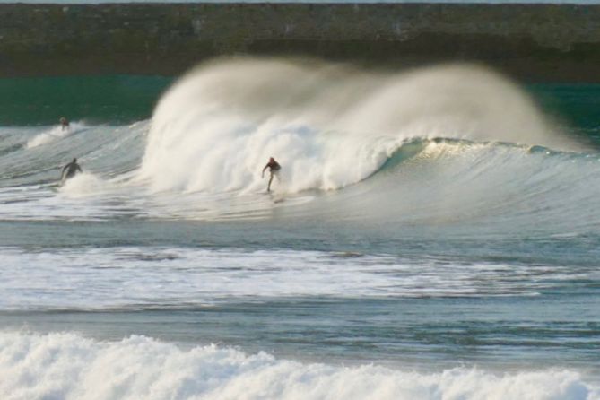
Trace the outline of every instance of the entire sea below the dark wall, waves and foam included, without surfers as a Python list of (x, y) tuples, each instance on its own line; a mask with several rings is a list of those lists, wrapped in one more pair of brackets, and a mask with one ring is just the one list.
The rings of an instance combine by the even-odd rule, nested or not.
[(600, 85), (244, 58), (0, 91), (0, 398), (600, 399)]

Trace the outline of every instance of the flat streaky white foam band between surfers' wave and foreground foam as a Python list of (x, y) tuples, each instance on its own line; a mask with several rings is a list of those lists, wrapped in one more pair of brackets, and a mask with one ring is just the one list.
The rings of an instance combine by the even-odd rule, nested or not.
[[(291, 250), (4, 248), (0, 256), (6, 266), (0, 269), (0, 310), (137, 309), (298, 296), (535, 296), (598, 275), (593, 267), (448, 265)], [(543, 275), (543, 282), (532, 274)]]

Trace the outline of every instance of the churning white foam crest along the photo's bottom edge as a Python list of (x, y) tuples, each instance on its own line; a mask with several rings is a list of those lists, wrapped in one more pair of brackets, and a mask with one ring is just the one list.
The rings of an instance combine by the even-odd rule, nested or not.
[(216, 346), (184, 351), (144, 336), (99, 342), (70, 333), (0, 333), (0, 396), (60, 399), (587, 399), (578, 372), (432, 373), (340, 367)]

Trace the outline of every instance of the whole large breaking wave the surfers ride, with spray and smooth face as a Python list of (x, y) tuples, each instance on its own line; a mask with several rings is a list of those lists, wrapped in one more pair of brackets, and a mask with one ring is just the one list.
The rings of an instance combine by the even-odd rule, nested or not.
[[(150, 121), (42, 143), (57, 129), (0, 130), (0, 216), (239, 219), (299, 205), (300, 217), (507, 232), (598, 222), (598, 153), (482, 66), (225, 59), (175, 83)], [(283, 170), (266, 198), (270, 156)], [(73, 157), (86, 174), (49, 192)]]

